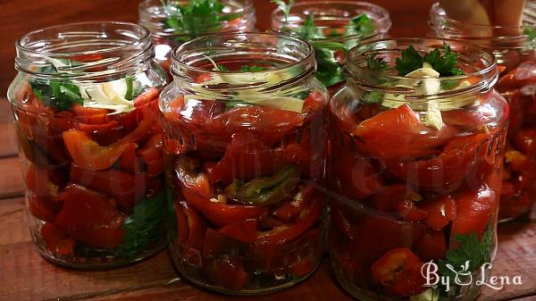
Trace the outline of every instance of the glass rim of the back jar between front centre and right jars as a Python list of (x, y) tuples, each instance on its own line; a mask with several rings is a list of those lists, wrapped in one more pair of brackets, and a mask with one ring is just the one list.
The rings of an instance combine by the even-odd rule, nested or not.
[[(366, 37), (361, 37), (359, 35), (347, 35), (347, 36), (340, 36), (340, 37), (333, 37), (333, 38), (316, 38), (314, 39), (315, 41), (331, 42), (331, 41), (340, 41), (340, 40), (350, 40), (350, 39), (356, 39), (356, 38), (369, 39), (369, 38), (379, 36), (389, 31), (392, 25), (390, 21), (390, 14), (387, 9), (385, 9), (384, 7), (378, 4), (368, 3), (364, 1), (348, 1), (348, 0), (347, 1), (345, 0), (318, 1), (318, 0), (314, 0), (314, 1), (299, 2), (297, 4), (293, 4), (291, 7), (291, 10), (293, 8), (297, 8), (299, 9), (299, 12), (301, 12), (304, 8), (307, 8), (307, 7), (313, 8), (314, 6), (318, 6), (318, 5), (347, 5), (348, 7), (352, 7), (352, 8), (362, 8), (364, 12), (369, 12), (369, 13), (374, 12), (375, 15), (380, 16), (379, 18), (373, 18), (373, 20), (376, 21), (378, 24), (382, 24), (383, 26), (381, 26), (381, 29), (375, 29), (372, 35), (366, 36)], [(292, 15), (292, 12), (290, 12), (289, 15)], [(347, 17), (352, 18), (352, 17), (355, 17), (355, 15), (351, 15)], [(273, 27), (274, 27), (275, 21), (280, 22), (281, 24), (286, 24), (286, 25), (299, 24), (299, 22), (296, 22), (296, 21), (287, 21), (281, 7), (277, 7), (275, 10), (272, 11), (272, 29), (274, 29)], [(322, 28), (322, 26), (319, 28)], [(329, 29), (329, 27), (323, 27), (323, 28)]]

